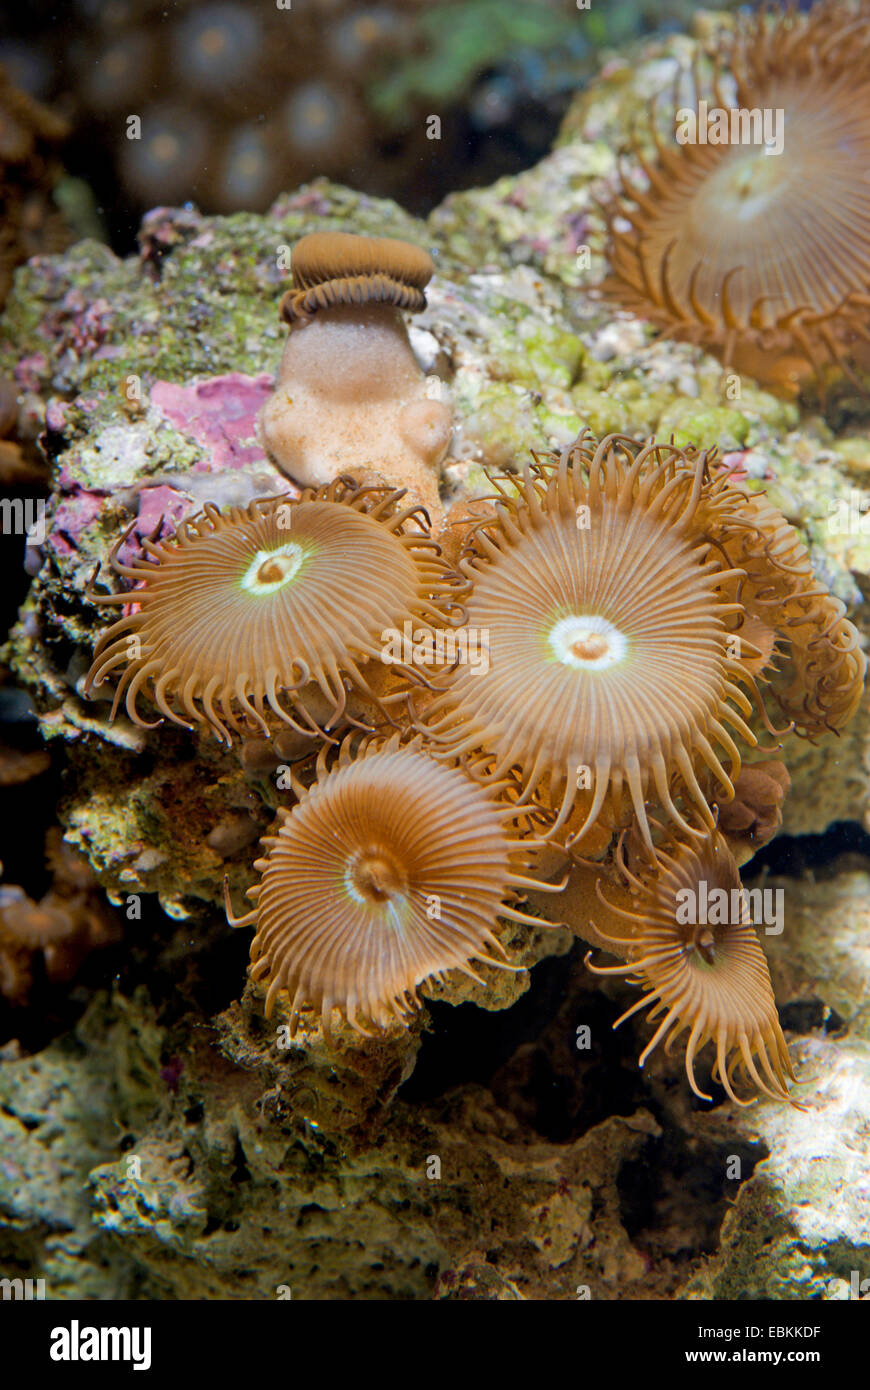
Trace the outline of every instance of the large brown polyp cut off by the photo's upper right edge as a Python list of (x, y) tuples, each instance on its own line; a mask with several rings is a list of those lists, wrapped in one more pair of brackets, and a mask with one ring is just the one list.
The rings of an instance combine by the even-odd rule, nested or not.
[(870, 4), (763, 6), (723, 32), (714, 74), (693, 106), (657, 103), (674, 131), (653, 115), (650, 158), (634, 143), (639, 175), (606, 210), (606, 297), (785, 395), (866, 368)]

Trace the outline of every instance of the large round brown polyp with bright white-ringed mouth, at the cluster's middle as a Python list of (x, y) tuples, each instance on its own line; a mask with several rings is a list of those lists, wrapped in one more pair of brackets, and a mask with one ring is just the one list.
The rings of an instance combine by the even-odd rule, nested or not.
[(489, 673), (457, 666), (420, 708), (428, 737), (484, 778), (509, 769), (556, 816), (578, 808), (582, 838), (602, 816), (637, 817), (648, 799), (691, 828), (688, 798), (712, 827), (739, 753), (755, 742), (728, 655), (739, 602), (698, 517), (706, 453), (582, 434), (561, 455), (498, 475), (496, 507), (475, 523), (461, 570), (468, 624), (489, 634)]

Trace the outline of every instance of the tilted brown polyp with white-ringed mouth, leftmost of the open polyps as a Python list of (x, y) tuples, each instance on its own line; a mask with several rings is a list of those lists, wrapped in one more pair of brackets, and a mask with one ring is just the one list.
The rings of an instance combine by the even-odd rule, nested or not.
[[(207, 505), (143, 557), (114, 570), (132, 588), (97, 595), (125, 612), (99, 639), (90, 694), (121, 671), (113, 717), (149, 726), (147, 694), (175, 724), (229, 744), (267, 719), (311, 738), (340, 723), (349, 689), (372, 696), (381, 634), (406, 620), (449, 623), (456, 582), (402, 491), (338, 478), (297, 498), (220, 512)], [(124, 539), (124, 538), (122, 538)], [(320, 716), (320, 710), (324, 710)]]

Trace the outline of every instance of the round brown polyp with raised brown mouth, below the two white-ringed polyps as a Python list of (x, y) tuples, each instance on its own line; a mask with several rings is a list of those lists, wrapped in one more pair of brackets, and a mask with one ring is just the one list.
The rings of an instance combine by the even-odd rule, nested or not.
[[(310, 788), (279, 812), (254, 862), (252, 979), (268, 981), (265, 1015), (286, 991), (290, 1031), (307, 1006), (329, 1034), (336, 1009), (360, 1033), (406, 1024), (418, 987), (473, 962), (516, 969), (498, 919), (549, 923), (517, 909), (535, 842), (517, 831), (500, 788), (436, 762), (420, 737), (349, 735)], [(557, 891), (559, 885), (549, 885)]]

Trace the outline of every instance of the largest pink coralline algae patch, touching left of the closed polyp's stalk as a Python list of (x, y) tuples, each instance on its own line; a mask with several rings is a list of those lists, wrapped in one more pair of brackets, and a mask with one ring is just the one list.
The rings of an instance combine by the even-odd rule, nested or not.
[(263, 449), (254, 439), (254, 421), (271, 391), (272, 378), (265, 374), (231, 373), (183, 386), (156, 381), (149, 396), (170, 424), (208, 450), (208, 457), (195, 466), (196, 471), (214, 473), (263, 459)]

